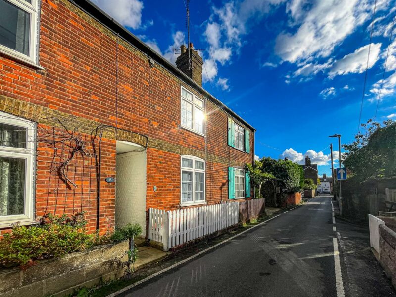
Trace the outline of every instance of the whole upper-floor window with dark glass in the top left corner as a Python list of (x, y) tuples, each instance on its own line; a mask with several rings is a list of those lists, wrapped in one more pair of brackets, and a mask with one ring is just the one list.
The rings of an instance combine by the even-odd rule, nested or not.
[(0, 51), (37, 63), (39, 0), (0, 0)]

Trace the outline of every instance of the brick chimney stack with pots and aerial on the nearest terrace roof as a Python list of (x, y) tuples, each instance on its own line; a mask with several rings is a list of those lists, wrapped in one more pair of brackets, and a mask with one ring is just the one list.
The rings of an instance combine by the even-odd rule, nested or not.
[[(191, 52), (191, 67), (189, 67), (189, 53)], [(185, 45), (180, 46), (180, 56), (176, 59), (176, 67), (195, 81), (199, 86), (202, 86), (202, 65), (203, 60), (199, 56), (198, 51), (194, 50), (193, 43), (190, 43), (189, 48)]]

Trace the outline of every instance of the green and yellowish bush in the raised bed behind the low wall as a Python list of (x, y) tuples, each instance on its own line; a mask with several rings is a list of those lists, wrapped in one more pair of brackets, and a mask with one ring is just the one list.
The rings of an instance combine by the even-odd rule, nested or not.
[(12, 233), (0, 239), (0, 266), (27, 268), (37, 260), (61, 257), (98, 244), (118, 243), (142, 232), (139, 224), (128, 224), (112, 234), (99, 236), (87, 234), (86, 224), (84, 212), (71, 217), (49, 213), (30, 227), (16, 224)]

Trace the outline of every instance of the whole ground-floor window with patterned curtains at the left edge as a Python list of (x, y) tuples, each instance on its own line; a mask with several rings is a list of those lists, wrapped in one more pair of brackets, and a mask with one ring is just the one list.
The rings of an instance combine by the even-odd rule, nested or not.
[(35, 124), (0, 112), (0, 227), (33, 221)]

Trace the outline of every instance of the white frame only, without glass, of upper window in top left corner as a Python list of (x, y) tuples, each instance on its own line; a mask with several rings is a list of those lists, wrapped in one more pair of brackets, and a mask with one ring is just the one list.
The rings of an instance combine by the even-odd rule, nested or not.
[(5, 0), (14, 4), (18, 8), (30, 14), (30, 30), (29, 30), (29, 55), (25, 55), (17, 50), (7, 48), (0, 44), (0, 52), (17, 58), (22, 62), (30, 65), (38, 66), (38, 40), (39, 40), (39, 0), (31, 0), (32, 4), (24, 0)]

